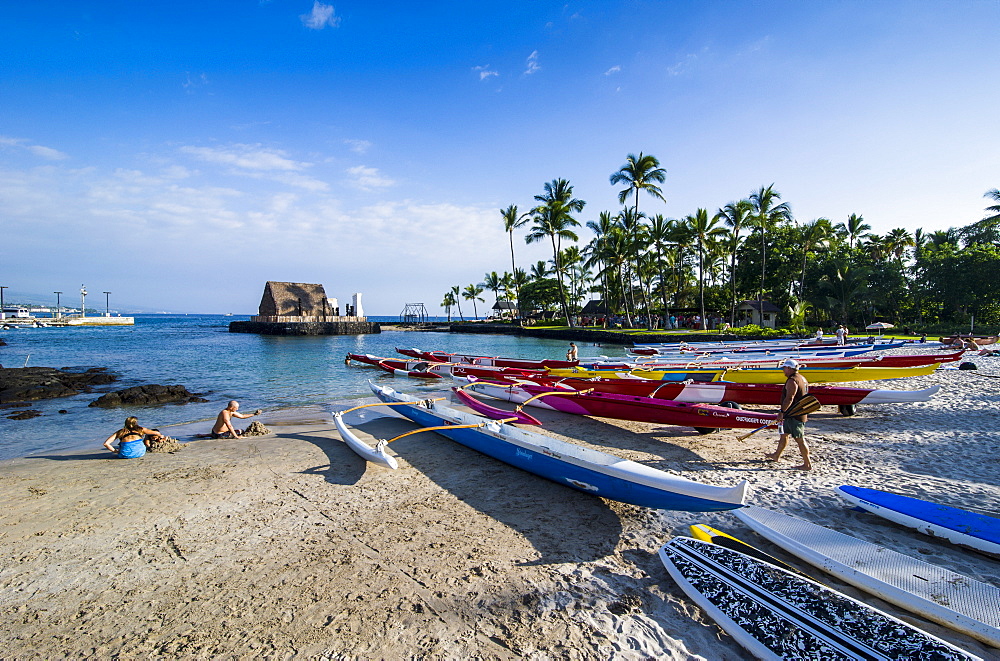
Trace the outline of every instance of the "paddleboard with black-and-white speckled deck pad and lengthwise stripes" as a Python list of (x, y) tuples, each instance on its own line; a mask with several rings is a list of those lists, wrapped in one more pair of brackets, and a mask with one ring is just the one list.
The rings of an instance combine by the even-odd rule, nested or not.
[(660, 547), (682, 590), (759, 659), (977, 659), (815, 581), (690, 537)]

